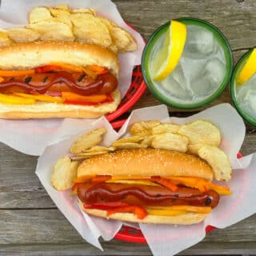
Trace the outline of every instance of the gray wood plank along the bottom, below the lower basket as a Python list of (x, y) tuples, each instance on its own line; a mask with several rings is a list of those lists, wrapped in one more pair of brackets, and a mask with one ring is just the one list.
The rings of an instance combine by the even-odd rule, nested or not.
[[(79, 254), (79, 251), (82, 250), (81, 247), (85, 248), (87, 253), (99, 253), (93, 246), (82, 240), (58, 210), (0, 210), (0, 215), (0, 253), (17, 252), (18, 248), (25, 251), (38, 251), (42, 248), (46, 251), (60, 250), (62, 245), (66, 246), (64, 247), (66, 253), (72, 251)], [(226, 229), (213, 230), (206, 234), (206, 238), (200, 243), (200, 246), (195, 246), (197, 250), (194, 253), (199, 254), (199, 248), (202, 248), (205, 253), (205, 249), (208, 248), (207, 254), (210, 254), (210, 250), (214, 250), (212, 244), (220, 245), (215, 248), (218, 252), (224, 248), (226, 248), (225, 250), (233, 248), (234, 252), (234, 248), (236, 248), (235, 250), (241, 253), (243, 248), (247, 248), (243, 246), (247, 245), (249, 246), (247, 250), (256, 252), (255, 229), (256, 215)], [(113, 244), (115, 249), (112, 251)], [(103, 242), (102, 245), (106, 248), (106, 254), (131, 255), (134, 249), (138, 255), (144, 255), (145, 251), (146, 254), (149, 252), (146, 245), (133, 244), (133, 249), (131, 249), (128, 242)], [(61, 251), (64, 252), (64, 249), (62, 248)]]

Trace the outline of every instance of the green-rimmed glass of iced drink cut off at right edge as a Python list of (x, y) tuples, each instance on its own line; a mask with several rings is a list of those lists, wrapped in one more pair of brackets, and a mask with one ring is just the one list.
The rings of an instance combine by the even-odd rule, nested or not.
[[(232, 102), (239, 114), (251, 125), (256, 126), (256, 73), (247, 79), (246, 82), (238, 83), (238, 75), (246, 65), (253, 50), (247, 51), (235, 66), (230, 82), (230, 93)], [(254, 59), (255, 62), (256, 60)], [(256, 69), (255, 66), (253, 68), (254, 70)]]

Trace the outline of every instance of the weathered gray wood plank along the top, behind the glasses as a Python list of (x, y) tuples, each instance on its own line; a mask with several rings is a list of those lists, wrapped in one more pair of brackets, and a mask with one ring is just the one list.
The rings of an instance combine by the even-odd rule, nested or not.
[(202, 18), (217, 26), (232, 50), (255, 46), (256, 2), (246, 1), (114, 1), (122, 17), (146, 38), (172, 18)]

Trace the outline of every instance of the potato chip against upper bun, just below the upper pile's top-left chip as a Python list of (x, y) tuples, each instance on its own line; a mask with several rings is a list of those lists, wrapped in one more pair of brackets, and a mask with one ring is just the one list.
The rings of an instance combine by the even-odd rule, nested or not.
[(38, 31), (42, 41), (74, 41), (70, 26), (63, 22), (45, 21), (26, 26), (31, 30)]

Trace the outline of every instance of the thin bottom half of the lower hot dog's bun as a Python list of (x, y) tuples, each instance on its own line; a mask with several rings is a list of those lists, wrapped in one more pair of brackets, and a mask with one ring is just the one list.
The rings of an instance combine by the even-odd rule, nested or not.
[(112, 218), (123, 222), (140, 222), (140, 223), (152, 223), (152, 224), (174, 224), (174, 225), (190, 225), (202, 222), (207, 214), (198, 213), (187, 213), (176, 216), (158, 216), (149, 214), (146, 218), (138, 219), (136, 215), (130, 213), (117, 213), (106, 216), (106, 210), (96, 210), (96, 209), (85, 209), (82, 201), (78, 199), (79, 205), (82, 210), (87, 214), (102, 218)]

